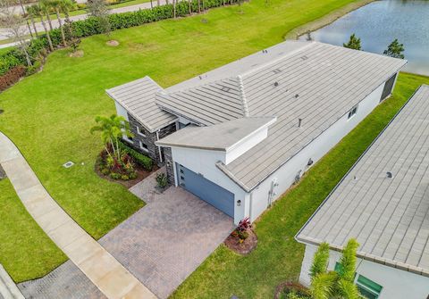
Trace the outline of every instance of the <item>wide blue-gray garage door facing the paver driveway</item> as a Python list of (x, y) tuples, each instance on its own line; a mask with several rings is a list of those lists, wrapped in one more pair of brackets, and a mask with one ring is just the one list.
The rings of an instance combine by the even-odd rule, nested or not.
[(179, 185), (225, 214), (234, 217), (234, 194), (198, 173), (177, 165)]

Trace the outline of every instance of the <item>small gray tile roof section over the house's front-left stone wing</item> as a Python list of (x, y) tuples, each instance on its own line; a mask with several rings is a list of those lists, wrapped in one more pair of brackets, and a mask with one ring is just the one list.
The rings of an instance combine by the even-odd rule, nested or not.
[(145, 77), (107, 89), (106, 92), (150, 132), (154, 132), (177, 119), (156, 105), (155, 95), (162, 90), (154, 80)]

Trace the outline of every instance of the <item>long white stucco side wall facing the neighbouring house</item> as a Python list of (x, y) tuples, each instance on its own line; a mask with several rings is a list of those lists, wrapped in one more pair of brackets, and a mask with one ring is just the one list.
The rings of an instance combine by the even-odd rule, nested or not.
[[(384, 84), (366, 96), (358, 104), (357, 114), (351, 119), (348, 120), (348, 114), (346, 113), (340, 120), (337, 120), (329, 129), (326, 129), (324, 133), (316, 137), (315, 140), (293, 156), (289, 162), (283, 164), (279, 170), (273, 172), (270, 177), (254, 189), (251, 195), (249, 214), (246, 216), (254, 221), (265, 211), (268, 206), (269, 192), (274, 179), (278, 183), (278, 187), (274, 188), (275, 195), (273, 196), (273, 200), (276, 200), (294, 183), (299, 170), (301, 170), (302, 175), (308, 169), (307, 162), (309, 159), (312, 159), (314, 163), (317, 162), (354, 129), (361, 120), (364, 120), (380, 103), (383, 87)], [(303, 125), (305, 126), (305, 123)]]

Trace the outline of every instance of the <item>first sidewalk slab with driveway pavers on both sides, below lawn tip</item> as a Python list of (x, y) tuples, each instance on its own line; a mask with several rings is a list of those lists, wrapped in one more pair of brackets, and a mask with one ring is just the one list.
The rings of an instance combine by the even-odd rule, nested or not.
[(77, 265), (98, 287), (97, 282), (105, 277), (107, 273), (114, 270), (118, 262), (114, 260), (112, 255), (103, 250)]

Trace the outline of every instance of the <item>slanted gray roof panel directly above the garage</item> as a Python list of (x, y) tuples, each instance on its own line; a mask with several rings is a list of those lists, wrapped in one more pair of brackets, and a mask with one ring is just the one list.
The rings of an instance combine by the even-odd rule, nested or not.
[(207, 127), (187, 127), (164, 137), (156, 145), (226, 152), (257, 129), (269, 126), (274, 121), (274, 117), (248, 117)]

